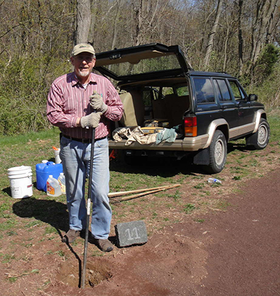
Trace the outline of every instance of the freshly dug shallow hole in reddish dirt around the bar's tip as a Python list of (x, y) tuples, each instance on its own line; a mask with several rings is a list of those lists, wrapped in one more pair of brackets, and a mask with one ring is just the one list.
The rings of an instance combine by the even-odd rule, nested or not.
[[(59, 268), (57, 281), (62, 282), (72, 287), (78, 287), (81, 283), (82, 266), (73, 265), (70, 262), (64, 262)], [(109, 262), (106, 260), (87, 260), (87, 269), (85, 276), (85, 286), (94, 287), (104, 280), (112, 277)]]

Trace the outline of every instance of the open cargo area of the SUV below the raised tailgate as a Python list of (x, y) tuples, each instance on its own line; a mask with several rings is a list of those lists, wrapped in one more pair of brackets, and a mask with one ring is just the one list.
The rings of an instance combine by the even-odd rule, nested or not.
[[(141, 129), (144, 135), (149, 136), (162, 132), (176, 133), (175, 141), (167, 143), (132, 143), (134, 149), (152, 149), (166, 146), (167, 150), (181, 150), (183, 140), (183, 117), (190, 110), (190, 94), (186, 78), (165, 78), (161, 80), (149, 80), (141, 83), (127, 83), (118, 85), (120, 99), (123, 102), (123, 118), (111, 129), (112, 139), (110, 148), (127, 148), (127, 137), (122, 140), (113, 141), (113, 134), (117, 129), (135, 127)], [(174, 134), (172, 134), (174, 136)], [(179, 143), (175, 143), (177, 140)], [(125, 145), (126, 143), (126, 145)], [(148, 144), (148, 146), (147, 146)], [(172, 144), (172, 147), (170, 147)], [(176, 148), (176, 146), (178, 146)]]

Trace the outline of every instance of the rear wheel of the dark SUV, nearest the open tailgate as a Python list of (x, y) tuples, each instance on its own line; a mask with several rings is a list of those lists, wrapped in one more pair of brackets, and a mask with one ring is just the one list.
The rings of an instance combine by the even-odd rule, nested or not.
[(206, 167), (210, 174), (220, 173), (225, 167), (227, 160), (227, 140), (220, 130), (216, 130), (212, 142), (209, 146), (209, 165)]

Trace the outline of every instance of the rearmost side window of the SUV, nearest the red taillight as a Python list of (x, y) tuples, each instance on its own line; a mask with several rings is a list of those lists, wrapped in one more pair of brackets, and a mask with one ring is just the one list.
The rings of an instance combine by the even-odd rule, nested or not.
[(209, 78), (194, 78), (197, 104), (214, 103), (214, 87)]

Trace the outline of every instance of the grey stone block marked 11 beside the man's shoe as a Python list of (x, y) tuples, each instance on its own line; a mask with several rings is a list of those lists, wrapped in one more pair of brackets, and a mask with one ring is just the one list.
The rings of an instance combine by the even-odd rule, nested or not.
[(132, 246), (145, 244), (148, 241), (146, 225), (144, 221), (132, 221), (115, 225), (118, 246)]

